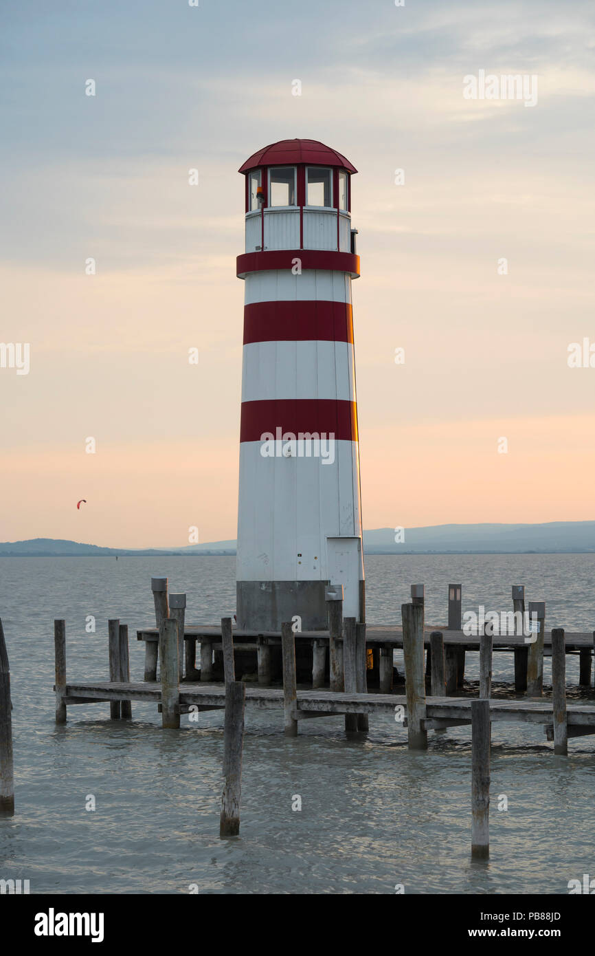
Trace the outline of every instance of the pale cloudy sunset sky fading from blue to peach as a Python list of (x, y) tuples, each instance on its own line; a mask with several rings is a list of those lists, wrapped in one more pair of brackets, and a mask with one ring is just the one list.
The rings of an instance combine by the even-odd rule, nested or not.
[[(0, 367), (0, 541), (235, 537), (237, 170), (295, 137), (358, 169), (364, 527), (595, 518), (594, 27), (590, 0), (3, 4), (0, 340), (30, 368)], [(465, 98), (480, 71), (537, 102)]]

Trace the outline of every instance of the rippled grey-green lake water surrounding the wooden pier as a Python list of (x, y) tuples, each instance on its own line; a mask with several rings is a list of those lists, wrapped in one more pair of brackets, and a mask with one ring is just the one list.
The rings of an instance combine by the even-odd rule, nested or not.
[[(399, 622), (417, 582), (426, 620), (444, 621), (447, 585), (460, 581), (463, 611), (509, 610), (511, 585), (525, 584), (526, 600), (545, 599), (547, 627), (595, 626), (594, 554), (378, 555), (366, 573), (370, 623)], [(186, 592), (189, 622), (214, 623), (235, 611), (234, 575), (233, 557), (0, 558), (17, 811), (0, 821), (0, 879), (30, 880), (32, 893), (187, 893), (191, 883), (201, 893), (393, 893), (402, 883), (406, 893), (558, 894), (595, 875), (592, 737), (571, 740), (565, 759), (542, 728), (494, 725), (491, 858), (472, 863), (469, 728), (431, 733), (428, 751), (413, 753), (388, 716), (371, 716), (357, 741), (341, 717), (302, 722), (286, 739), (281, 710), (247, 710), (241, 836), (220, 840), (223, 712), (162, 730), (155, 705), (133, 703), (131, 722), (112, 722), (96, 704), (69, 707), (68, 724), (54, 725), (54, 618), (67, 621), (70, 679), (107, 680), (107, 620), (119, 618), (142, 680), (134, 632), (154, 622), (150, 577)], [(477, 655), (466, 676), (477, 680)], [(512, 655), (495, 654), (495, 683), (512, 680)], [(573, 697), (593, 700), (576, 690), (576, 657), (567, 681)]]

